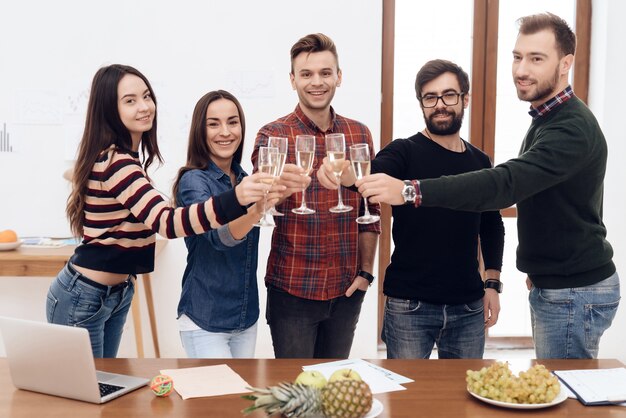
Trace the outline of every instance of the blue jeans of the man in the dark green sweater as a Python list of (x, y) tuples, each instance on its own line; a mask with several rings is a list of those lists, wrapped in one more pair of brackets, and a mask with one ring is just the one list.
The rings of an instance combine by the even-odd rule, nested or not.
[(528, 300), (537, 358), (597, 358), (619, 305), (619, 276), (569, 289), (533, 286)]

